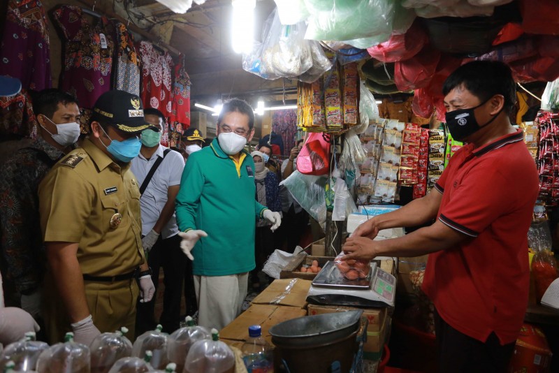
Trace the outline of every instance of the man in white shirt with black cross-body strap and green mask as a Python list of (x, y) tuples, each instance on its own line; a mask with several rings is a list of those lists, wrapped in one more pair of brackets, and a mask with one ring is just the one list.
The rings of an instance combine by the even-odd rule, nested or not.
[[(146, 129), (142, 132), (140, 155), (132, 160), (131, 170), (140, 185), (140, 208), (142, 213), (142, 244), (147, 263), (152, 269), (152, 281), (156, 294), (159, 284), (159, 268), (164, 270), (163, 313), (159, 323), (164, 332), (173, 332), (180, 326), (180, 301), (187, 257), (180, 249), (179, 229), (175, 219), (175, 197), (180, 187), (184, 159), (179, 152), (161, 145), (161, 132), (165, 117), (157, 109), (144, 110), (145, 121), (159, 131)], [(154, 169), (154, 172), (151, 172)], [(150, 174), (152, 176), (150, 177)], [(154, 295), (154, 298), (156, 296)], [(138, 303), (136, 335), (152, 330), (155, 301)]]

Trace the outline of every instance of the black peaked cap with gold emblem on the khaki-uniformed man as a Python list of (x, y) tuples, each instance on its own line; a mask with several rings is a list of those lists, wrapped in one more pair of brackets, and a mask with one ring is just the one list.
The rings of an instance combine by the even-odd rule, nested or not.
[(145, 122), (140, 98), (116, 89), (97, 98), (91, 120), (109, 124), (126, 133), (137, 133), (153, 127)]

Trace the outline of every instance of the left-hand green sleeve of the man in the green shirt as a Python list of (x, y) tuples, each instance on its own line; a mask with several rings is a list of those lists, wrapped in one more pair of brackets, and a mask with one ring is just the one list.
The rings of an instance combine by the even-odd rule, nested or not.
[(195, 219), (204, 186), (204, 175), (198, 159), (191, 157), (184, 166), (180, 189), (175, 200), (177, 224), (181, 232), (196, 229)]

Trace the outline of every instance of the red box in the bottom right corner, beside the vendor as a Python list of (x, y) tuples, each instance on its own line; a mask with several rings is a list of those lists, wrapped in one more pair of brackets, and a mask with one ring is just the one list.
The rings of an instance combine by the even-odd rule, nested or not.
[(525, 323), (516, 339), (509, 373), (548, 373), (551, 369), (551, 350), (542, 330)]

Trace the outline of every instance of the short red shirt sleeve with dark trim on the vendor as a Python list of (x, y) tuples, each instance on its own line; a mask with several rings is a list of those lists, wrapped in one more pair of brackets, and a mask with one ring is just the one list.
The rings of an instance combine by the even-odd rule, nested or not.
[(477, 165), (462, 180), (445, 180), (449, 199), (440, 210), (439, 220), (456, 231), (477, 237), (495, 219), (506, 214), (512, 203), (502, 191), (508, 189), (509, 182), (496, 169)]

